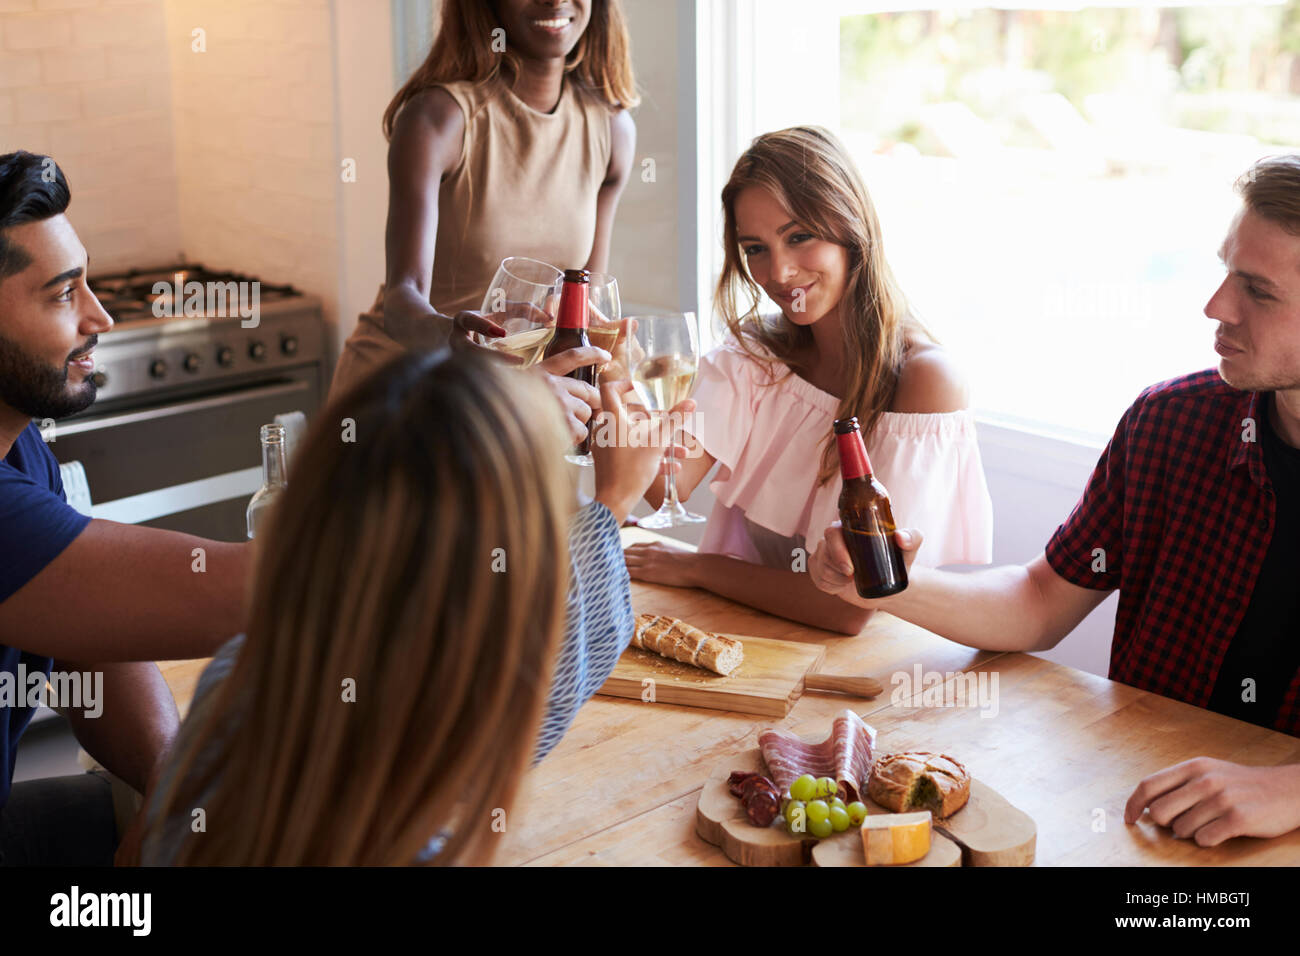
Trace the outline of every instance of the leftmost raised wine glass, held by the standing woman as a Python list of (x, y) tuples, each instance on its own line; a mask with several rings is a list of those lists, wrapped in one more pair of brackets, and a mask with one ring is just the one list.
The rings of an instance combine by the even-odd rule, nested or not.
[(538, 259), (510, 256), (497, 267), (484, 293), (482, 313), (506, 329), (502, 338), (478, 343), (514, 356), (524, 368), (542, 359), (555, 334), (555, 310), (564, 273)]

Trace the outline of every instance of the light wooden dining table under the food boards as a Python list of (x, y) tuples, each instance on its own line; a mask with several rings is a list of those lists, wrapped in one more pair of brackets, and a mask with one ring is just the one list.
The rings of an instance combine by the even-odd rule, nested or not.
[[(637, 528), (624, 542), (664, 541)], [(677, 544), (677, 542), (675, 542)], [(559, 745), (525, 777), (499, 832), (498, 865), (732, 865), (696, 832), (710, 773), (757, 745), (767, 727), (826, 735), (852, 708), (878, 732), (878, 750), (952, 754), (1037, 825), (1036, 865), (1297, 865), (1300, 830), (1204, 848), (1124, 803), (1149, 774), (1208, 756), (1249, 765), (1300, 762), (1300, 739), (1139, 691), (1032, 654), (953, 644), (885, 613), (853, 637), (776, 618), (705, 591), (632, 584), (637, 611), (710, 631), (822, 644), (824, 674), (874, 676), (872, 700), (805, 691), (784, 718), (597, 696)], [(188, 705), (203, 661), (159, 666)], [(991, 706), (930, 705), (898, 675), (997, 678)], [(945, 695), (954, 697), (956, 695)], [(957, 700), (961, 700), (959, 697)], [(967, 701), (968, 704), (971, 701)]]

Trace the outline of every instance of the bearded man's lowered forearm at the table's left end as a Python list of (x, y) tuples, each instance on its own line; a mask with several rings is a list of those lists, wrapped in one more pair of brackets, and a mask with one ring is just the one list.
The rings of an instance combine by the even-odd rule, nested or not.
[(144, 793), (181, 723), (157, 665), (56, 661), (55, 670), (104, 675), (94, 709), (99, 715), (88, 717), (86, 709), (66, 709), (64, 715), (91, 757)]

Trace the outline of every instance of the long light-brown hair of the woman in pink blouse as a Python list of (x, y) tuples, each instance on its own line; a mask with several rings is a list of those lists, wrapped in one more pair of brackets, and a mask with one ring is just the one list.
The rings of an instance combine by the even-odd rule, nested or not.
[[(796, 356), (812, 342), (812, 330), (784, 315), (759, 315), (763, 290), (749, 272), (736, 226), (736, 198), (751, 186), (771, 193), (790, 219), (818, 238), (849, 252), (848, 282), (840, 299), (848, 378), (836, 418), (855, 415), (863, 436), (870, 436), (893, 399), (909, 336), (931, 341), (933, 336), (911, 316), (889, 269), (880, 220), (862, 176), (828, 130), (794, 126), (754, 139), (723, 187), (725, 259), (714, 308), (746, 352), (768, 364), (775, 360), (789, 365), (793, 375), (800, 369)], [(838, 471), (831, 425), (826, 423), (820, 484)]]

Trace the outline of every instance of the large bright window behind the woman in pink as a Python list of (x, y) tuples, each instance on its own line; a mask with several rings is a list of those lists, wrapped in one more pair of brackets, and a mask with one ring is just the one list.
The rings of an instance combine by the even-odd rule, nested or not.
[(1232, 182), (1300, 148), (1300, 4), (1071, 7), (701, 0), (702, 300), (731, 163), (816, 122), (983, 420), (1096, 444), (1213, 365)]

